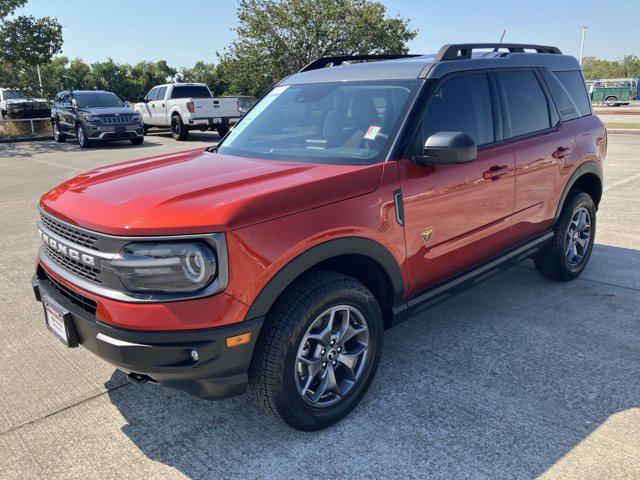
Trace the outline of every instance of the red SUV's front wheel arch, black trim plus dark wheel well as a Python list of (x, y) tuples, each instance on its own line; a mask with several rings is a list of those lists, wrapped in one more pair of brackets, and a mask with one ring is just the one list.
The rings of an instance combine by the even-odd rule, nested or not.
[(404, 297), (402, 271), (387, 248), (363, 237), (329, 240), (296, 256), (262, 288), (245, 320), (267, 315), (298, 278), (314, 270), (344, 273), (364, 283), (380, 303), (385, 327), (391, 325), (392, 307)]

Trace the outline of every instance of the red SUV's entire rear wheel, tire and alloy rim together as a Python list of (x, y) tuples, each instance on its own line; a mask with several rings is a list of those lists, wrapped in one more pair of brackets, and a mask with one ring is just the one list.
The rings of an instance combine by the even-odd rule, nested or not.
[(591, 196), (575, 192), (567, 199), (551, 244), (534, 258), (538, 271), (553, 280), (573, 280), (587, 266), (596, 234), (596, 208)]

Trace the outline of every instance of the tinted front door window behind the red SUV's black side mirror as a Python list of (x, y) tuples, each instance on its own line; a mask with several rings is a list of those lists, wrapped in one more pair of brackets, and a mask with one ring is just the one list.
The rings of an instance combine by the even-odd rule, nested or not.
[(437, 132), (463, 132), (477, 145), (494, 141), (486, 74), (456, 75), (438, 86), (422, 120), (422, 145)]

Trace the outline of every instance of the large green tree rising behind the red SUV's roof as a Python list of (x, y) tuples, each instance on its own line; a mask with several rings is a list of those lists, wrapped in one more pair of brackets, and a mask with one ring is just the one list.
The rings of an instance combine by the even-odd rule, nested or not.
[(223, 52), (229, 93), (260, 96), (318, 57), (406, 53), (409, 21), (368, 0), (240, 0), (238, 38)]

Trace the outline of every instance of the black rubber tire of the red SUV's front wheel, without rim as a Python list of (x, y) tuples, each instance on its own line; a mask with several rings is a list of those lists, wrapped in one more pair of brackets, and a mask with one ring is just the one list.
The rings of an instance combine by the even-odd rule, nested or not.
[[(298, 390), (298, 349), (310, 326), (337, 305), (354, 307), (363, 314), (369, 329), (367, 355), (359, 379), (348, 392), (337, 403), (316, 407)], [(250, 388), (267, 412), (295, 429), (315, 431), (332, 425), (353, 410), (367, 392), (380, 362), (383, 330), (380, 306), (362, 283), (334, 272), (307, 274), (267, 315), (249, 371)]]

